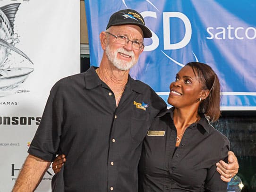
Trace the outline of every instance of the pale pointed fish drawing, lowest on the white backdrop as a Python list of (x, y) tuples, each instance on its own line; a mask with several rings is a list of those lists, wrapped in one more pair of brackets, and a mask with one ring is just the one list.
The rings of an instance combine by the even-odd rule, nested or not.
[(19, 83), (23, 83), (28, 75), (34, 71), (29, 67), (17, 67), (0, 69), (0, 88), (17, 86)]

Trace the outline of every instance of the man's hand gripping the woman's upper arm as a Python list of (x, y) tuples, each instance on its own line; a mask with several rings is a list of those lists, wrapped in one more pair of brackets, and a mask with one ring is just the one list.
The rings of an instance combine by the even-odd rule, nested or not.
[(232, 151), (229, 151), (228, 160), (229, 160), (228, 164), (222, 160), (216, 163), (217, 171), (221, 174), (222, 181), (225, 181), (225, 182), (230, 182), (232, 177), (238, 173), (238, 169), (239, 169), (237, 157)]

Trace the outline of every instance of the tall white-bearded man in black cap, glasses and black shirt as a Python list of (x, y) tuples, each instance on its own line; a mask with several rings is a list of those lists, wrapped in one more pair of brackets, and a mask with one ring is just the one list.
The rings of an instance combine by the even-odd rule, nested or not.
[(166, 108), (148, 85), (128, 75), (144, 49), (143, 38), (151, 36), (135, 10), (111, 16), (100, 34), (100, 67), (64, 78), (51, 89), (13, 192), (34, 191), (56, 154), (65, 154), (67, 161), (54, 190), (137, 191), (143, 138)]

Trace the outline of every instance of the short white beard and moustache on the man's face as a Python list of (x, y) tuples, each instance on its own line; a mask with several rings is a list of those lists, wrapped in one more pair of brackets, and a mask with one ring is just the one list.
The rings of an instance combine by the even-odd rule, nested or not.
[[(133, 51), (127, 51), (124, 48), (118, 48), (117, 50), (113, 51), (111, 47), (107, 45), (105, 51), (106, 51), (107, 58), (111, 61), (111, 63), (113, 63), (115, 67), (117, 67), (119, 70), (122, 70), (122, 71), (126, 71), (130, 69), (138, 61), (138, 59), (135, 59)], [(118, 52), (129, 55), (132, 58), (131, 61), (127, 62), (117, 58)]]

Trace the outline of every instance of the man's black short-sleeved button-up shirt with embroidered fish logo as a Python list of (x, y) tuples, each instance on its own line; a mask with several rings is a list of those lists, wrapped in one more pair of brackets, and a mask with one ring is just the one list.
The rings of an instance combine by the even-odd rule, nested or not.
[(91, 67), (53, 86), (28, 152), (46, 161), (67, 156), (57, 174), (65, 192), (137, 192), (142, 141), (164, 108), (148, 85), (130, 76), (116, 107)]

